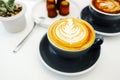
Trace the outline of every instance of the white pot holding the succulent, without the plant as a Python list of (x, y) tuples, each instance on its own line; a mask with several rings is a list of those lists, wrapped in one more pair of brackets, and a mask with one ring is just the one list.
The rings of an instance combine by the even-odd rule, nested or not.
[(16, 2), (16, 3), (22, 6), (21, 12), (11, 17), (0, 17), (0, 21), (3, 23), (5, 29), (8, 32), (12, 32), (12, 33), (20, 32), (24, 30), (26, 26), (26, 18), (25, 18), (26, 6), (24, 3), (21, 2)]

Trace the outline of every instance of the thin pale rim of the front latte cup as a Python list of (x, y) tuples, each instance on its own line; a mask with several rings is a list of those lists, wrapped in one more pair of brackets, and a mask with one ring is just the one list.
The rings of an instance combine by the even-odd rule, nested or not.
[[(84, 20), (82, 20), (82, 19), (80, 19), (80, 20), (81, 20), (81, 21), (84, 21)], [(90, 28), (92, 28), (92, 29), (94, 30), (94, 28), (92, 27), (91, 24), (89, 24), (87, 21), (84, 21), (84, 22), (85, 22), (85, 24), (89, 25)], [(49, 28), (48, 28), (48, 30), (49, 30)], [(59, 50), (61, 50), (61, 51), (71, 52), (71, 53), (72, 53), (72, 52), (79, 52), (79, 51), (84, 51), (84, 50), (86, 50), (86, 49), (89, 49), (89, 48), (94, 44), (94, 42), (95, 42), (96, 34), (95, 34), (95, 30), (94, 30), (94, 39), (93, 39), (93, 42), (92, 42), (89, 46), (87, 46), (86, 48), (81, 49), (81, 50), (66, 50), (66, 49), (60, 48), (59, 46), (55, 45), (55, 44), (50, 40), (50, 38), (49, 38), (49, 36), (48, 36), (48, 31), (47, 31), (47, 38), (48, 38), (48, 41), (49, 41), (54, 47), (56, 47), (57, 49), (59, 49)]]

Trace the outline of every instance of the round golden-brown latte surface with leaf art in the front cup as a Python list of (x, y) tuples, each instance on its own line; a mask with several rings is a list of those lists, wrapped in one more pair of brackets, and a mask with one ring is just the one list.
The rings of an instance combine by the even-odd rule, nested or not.
[(50, 43), (65, 51), (81, 51), (95, 40), (92, 26), (77, 18), (64, 18), (53, 22), (47, 33)]

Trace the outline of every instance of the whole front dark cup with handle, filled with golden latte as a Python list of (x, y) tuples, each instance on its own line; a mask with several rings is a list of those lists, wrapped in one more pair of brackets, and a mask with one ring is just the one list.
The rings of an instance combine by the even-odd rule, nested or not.
[(103, 43), (103, 38), (96, 36), (92, 25), (77, 18), (55, 21), (48, 28), (47, 38), (55, 54), (64, 58), (82, 57)]

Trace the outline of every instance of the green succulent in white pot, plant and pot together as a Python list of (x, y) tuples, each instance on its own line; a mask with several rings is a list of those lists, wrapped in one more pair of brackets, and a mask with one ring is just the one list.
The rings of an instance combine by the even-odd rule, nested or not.
[(0, 0), (0, 21), (8, 32), (22, 31), (26, 26), (26, 6), (15, 0)]

